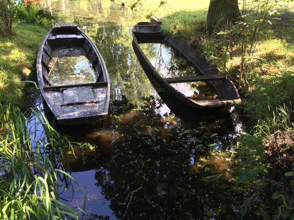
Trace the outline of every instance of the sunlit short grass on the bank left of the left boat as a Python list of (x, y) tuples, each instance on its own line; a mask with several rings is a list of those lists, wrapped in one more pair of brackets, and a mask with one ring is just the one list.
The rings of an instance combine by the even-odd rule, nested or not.
[(0, 36), (0, 87), (4, 96), (11, 94), (19, 100), (24, 84), (35, 73), (35, 62), (40, 43), (48, 30), (39, 25), (21, 24), (11, 38)]

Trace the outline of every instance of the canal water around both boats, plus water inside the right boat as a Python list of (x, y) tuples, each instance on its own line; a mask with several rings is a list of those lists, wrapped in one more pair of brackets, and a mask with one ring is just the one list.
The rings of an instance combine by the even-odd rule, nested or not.
[[(58, 131), (83, 143), (64, 154), (71, 176), (86, 191), (84, 212), (84, 192), (73, 181), (64, 187), (61, 202), (75, 207), (80, 219), (237, 219), (244, 193), (230, 181), (238, 171), (232, 143), (242, 130), (234, 108), (192, 111), (151, 84), (131, 44), (131, 28), (142, 20), (121, 1), (44, 4), (93, 40), (111, 80), (106, 120), (65, 127), (45, 109)], [(194, 72), (166, 45), (142, 48), (165, 77)], [(178, 86), (195, 96), (216, 95), (208, 84)], [(38, 90), (27, 99), (26, 107), (43, 107)], [(220, 181), (211, 181), (218, 174)]]

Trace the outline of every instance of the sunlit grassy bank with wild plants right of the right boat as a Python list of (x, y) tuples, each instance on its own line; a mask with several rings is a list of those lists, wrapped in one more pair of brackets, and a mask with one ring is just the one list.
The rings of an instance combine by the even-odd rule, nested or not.
[[(253, 182), (250, 192), (256, 192), (250, 198), (244, 197), (239, 208), (242, 218), (246, 219), (246, 211), (255, 210), (263, 213), (262, 219), (293, 220), (293, 1), (282, 7), (276, 5), (278, 13), (266, 14), (265, 22), (258, 24), (255, 41), (251, 35), (254, 28), (238, 35), (230, 31), (233, 26), (219, 27), (209, 36), (205, 22), (208, 0), (161, 2), (141, 0), (132, 7), (142, 19), (148, 20), (151, 15), (162, 18), (167, 33), (198, 50), (211, 65), (228, 74), (239, 89), (243, 101), (236, 107), (250, 135), (241, 134), (234, 147), (242, 167), (236, 180), (240, 184)], [(249, 22), (256, 25), (254, 18)], [(247, 38), (249, 35), (252, 37)], [(241, 72), (242, 60), (246, 60), (246, 78)], [(271, 205), (265, 205), (265, 201)]]

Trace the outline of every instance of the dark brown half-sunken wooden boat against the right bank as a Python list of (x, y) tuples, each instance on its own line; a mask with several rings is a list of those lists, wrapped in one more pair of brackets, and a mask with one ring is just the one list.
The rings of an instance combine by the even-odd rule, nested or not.
[[(232, 106), (241, 102), (240, 95), (233, 82), (226, 76), (220, 75), (217, 68), (213, 68), (203, 60), (193, 48), (185, 45), (171, 35), (164, 35), (161, 28), (148, 22), (139, 22), (132, 29), (133, 49), (147, 76), (155, 76), (158, 81), (178, 100), (195, 109), (215, 109)], [(140, 48), (140, 43), (167, 43), (177, 53), (195, 68), (199, 75), (190, 77), (163, 78), (155, 70), (151, 62)], [(173, 87), (173, 83), (182, 82), (210, 82), (217, 90), (220, 98), (187, 97)]]

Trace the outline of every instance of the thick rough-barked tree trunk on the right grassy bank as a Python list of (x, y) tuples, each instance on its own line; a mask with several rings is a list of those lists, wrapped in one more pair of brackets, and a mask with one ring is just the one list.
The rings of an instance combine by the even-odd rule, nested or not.
[(238, 0), (211, 0), (206, 18), (208, 32), (213, 33), (217, 24), (234, 23), (239, 16)]

